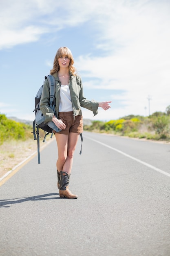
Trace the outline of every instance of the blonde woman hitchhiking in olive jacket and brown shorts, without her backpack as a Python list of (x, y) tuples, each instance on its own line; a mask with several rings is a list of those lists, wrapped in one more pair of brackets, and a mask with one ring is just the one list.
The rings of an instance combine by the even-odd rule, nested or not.
[(104, 110), (110, 108), (111, 101), (97, 102), (89, 101), (83, 95), (82, 80), (76, 74), (73, 66), (73, 55), (67, 47), (60, 47), (54, 58), (53, 69), (50, 74), (55, 77), (55, 112), (49, 108), (49, 83), (44, 82), (40, 110), (45, 115), (45, 123), (53, 121), (61, 129), (55, 132), (58, 148), (57, 177), (58, 189), (61, 198), (75, 199), (77, 195), (68, 189), (71, 169), (73, 165), (73, 154), (77, 145), (79, 134), (83, 132), (83, 120), (81, 107), (93, 111), (97, 115), (98, 107)]

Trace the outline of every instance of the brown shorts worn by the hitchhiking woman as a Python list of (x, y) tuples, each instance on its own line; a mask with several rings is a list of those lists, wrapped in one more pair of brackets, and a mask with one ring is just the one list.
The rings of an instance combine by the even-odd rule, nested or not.
[[(69, 112), (59, 112), (58, 119), (62, 119), (63, 123), (66, 125), (65, 130), (61, 130), (60, 134), (69, 134), (70, 132), (82, 133), (83, 132), (83, 117), (82, 115), (73, 116), (73, 111)], [(53, 130), (53, 133), (55, 131)]]

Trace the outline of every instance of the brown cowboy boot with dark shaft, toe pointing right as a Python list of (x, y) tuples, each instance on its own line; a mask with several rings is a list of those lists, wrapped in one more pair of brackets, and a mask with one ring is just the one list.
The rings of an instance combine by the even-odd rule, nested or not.
[(68, 198), (68, 199), (76, 199), (78, 196), (73, 195), (71, 191), (68, 189), (70, 181), (70, 174), (60, 171), (60, 189), (59, 189), (59, 195), (60, 198)]

